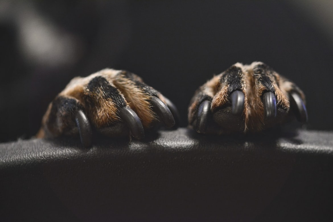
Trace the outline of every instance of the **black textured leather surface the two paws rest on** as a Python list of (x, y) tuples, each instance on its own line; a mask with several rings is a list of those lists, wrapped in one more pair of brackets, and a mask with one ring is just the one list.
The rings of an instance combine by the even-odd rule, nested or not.
[(1, 221), (329, 221), (333, 132), (0, 144)]

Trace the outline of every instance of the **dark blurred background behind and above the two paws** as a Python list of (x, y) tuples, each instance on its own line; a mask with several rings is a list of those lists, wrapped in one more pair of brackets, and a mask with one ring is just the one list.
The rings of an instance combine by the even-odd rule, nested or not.
[(332, 130), (333, 2), (0, 0), (0, 141), (29, 138), (75, 76), (140, 75), (187, 125), (194, 91), (262, 61), (307, 96), (308, 129)]

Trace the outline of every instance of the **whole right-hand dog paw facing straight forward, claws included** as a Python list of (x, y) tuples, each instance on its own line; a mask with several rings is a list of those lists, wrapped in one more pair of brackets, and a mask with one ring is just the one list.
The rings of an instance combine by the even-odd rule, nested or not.
[(199, 133), (258, 132), (290, 121), (307, 121), (305, 96), (262, 62), (236, 63), (194, 94), (189, 126)]

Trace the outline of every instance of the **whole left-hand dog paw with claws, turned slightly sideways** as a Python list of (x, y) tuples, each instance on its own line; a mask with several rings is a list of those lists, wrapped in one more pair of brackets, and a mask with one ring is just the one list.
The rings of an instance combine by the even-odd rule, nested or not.
[(141, 139), (145, 129), (174, 126), (177, 116), (175, 106), (139, 76), (104, 69), (71, 80), (50, 103), (37, 137), (80, 135), (84, 146), (91, 144), (93, 131)]

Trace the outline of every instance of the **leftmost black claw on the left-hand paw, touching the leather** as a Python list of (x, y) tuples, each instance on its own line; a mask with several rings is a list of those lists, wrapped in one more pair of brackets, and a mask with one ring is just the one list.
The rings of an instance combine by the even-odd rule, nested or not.
[(81, 143), (84, 147), (91, 146), (92, 130), (86, 114), (78, 110), (75, 115), (75, 122), (79, 129)]

